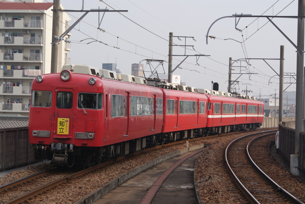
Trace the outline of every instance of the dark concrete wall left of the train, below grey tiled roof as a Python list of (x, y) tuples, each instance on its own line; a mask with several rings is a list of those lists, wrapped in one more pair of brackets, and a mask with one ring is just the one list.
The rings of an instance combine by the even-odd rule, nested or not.
[(0, 129), (0, 172), (34, 163), (28, 127)]

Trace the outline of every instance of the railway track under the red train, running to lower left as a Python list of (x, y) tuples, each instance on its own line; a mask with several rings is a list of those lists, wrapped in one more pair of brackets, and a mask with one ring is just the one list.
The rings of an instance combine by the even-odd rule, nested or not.
[[(250, 132), (249, 130), (245, 132)], [(227, 134), (220, 134), (220, 135), (212, 135), (204, 138), (212, 138), (212, 137), (219, 137), (223, 135), (228, 135), (228, 134), (235, 134), (233, 133), (227, 133)], [(194, 139), (189, 139), (187, 141), (196, 141), (200, 140), (202, 138), (194, 138)], [(129, 155), (126, 156), (121, 156), (109, 161), (106, 161), (104, 163), (98, 164), (96, 166), (92, 166), (88, 169), (81, 170), (78, 172), (75, 172), (73, 174), (67, 173), (65, 175), (59, 174), (57, 170), (52, 169), (49, 171), (37, 173), (28, 177), (25, 177), (23, 179), (19, 179), (14, 182), (10, 182), (9, 184), (5, 184), (0, 186), (0, 197), (2, 198), (2, 201), (0, 202), (9, 204), (9, 203), (20, 203), (23, 201), (26, 201), (27, 199), (40, 194), (43, 191), (46, 191), (50, 188), (53, 188), (55, 186), (58, 186), (59, 184), (62, 184), (66, 181), (69, 181), (70, 179), (73, 179), (75, 177), (79, 177), (81, 175), (87, 174), (88, 172), (91, 172), (95, 169), (101, 168), (102, 166), (106, 166), (108, 164), (111, 164), (113, 162), (116, 162), (121, 159), (125, 159), (129, 156), (133, 156), (136, 154), (140, 154), (142, 152), (150, 151), (153, 149), (159, 149), (159, 148), (164, 148), (169, 145), (174, 145), (174, 144), (179, 144), (179, 143), (185, 143), (185, 141), (177, 141), (165, 145), (160, 145), (157, 147), (152, 147), (148, 149), (144, 149), (138, 152), (133, 152)]]

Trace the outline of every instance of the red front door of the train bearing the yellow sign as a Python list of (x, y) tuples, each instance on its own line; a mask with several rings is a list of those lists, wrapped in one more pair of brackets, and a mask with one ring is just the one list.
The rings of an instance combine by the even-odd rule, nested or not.
[(53, 86), (55, 90), (55, 105), (54, 107), (54, 137), (72, 138), (73, 137), (73, 119), (74, 109), (73, 104), (74, 89), (58, 88)]

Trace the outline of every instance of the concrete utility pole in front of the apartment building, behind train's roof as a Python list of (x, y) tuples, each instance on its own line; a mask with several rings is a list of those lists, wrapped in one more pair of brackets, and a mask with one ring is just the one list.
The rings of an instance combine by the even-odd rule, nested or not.
[[(53, 9), (60, 8), (60, 0), (53, 1)], [(59, 11), (53, 11), (52, 42), (56, 41), (55, 36), (59, 37)], [(52, 44), (51, 51), (51, 73), (58, 71), (58, 42)]]

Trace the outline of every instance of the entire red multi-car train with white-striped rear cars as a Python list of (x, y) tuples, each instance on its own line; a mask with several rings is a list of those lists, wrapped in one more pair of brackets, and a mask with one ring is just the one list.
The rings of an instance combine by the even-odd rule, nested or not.
[(260, 127), (263, 102), (196, 91), (64, 66), (32, 83), (30, 143), (42, 159), (90, 166), (164, 142)]

